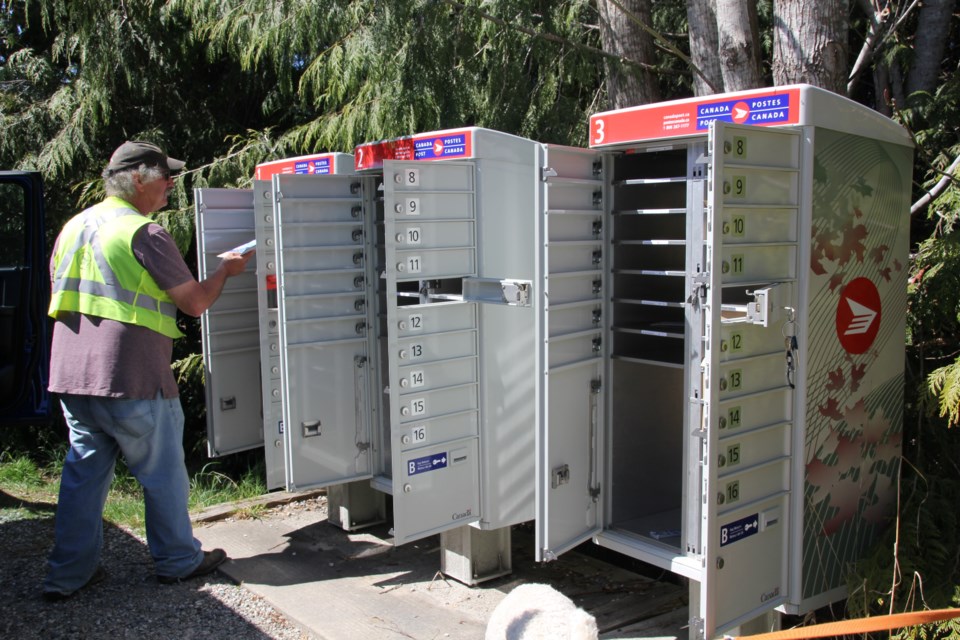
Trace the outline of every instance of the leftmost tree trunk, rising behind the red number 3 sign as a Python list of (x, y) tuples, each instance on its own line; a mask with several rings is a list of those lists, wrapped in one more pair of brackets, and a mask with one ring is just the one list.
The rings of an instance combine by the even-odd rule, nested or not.
[[(600, 38), (604, 51), (626, 60), (653, 64), (653, 38), (636, 20), (650, 25), (650, 0), (622, 0), (627, 12), (609, 0), (597, 0), (600, 13)], [(604, 62), (607, 96), (611, 109), (622, 109), (660, 100), (657, 79), (650, 71)]]

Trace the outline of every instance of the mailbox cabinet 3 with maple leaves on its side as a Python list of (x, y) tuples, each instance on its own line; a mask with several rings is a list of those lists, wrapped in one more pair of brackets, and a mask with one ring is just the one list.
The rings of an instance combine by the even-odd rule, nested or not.
[(689, 578), (696, 638), (843, 597), (895, 499), (909, 137), (796, 85), (596, 114), (590, 144), (604, 367), (559, 397), (538, 371), (538, 555)]

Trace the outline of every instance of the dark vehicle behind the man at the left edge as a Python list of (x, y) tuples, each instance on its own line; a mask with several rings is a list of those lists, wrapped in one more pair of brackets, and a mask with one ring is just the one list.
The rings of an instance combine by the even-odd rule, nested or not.
[(49, 299), (43, 181), (0, 171), (0, 424), (50, 419)]

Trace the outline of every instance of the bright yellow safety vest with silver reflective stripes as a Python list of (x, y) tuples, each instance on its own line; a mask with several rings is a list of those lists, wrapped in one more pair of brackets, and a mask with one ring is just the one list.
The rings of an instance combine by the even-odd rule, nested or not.
[(77, 311), (182, 337), (177, 306), (130, 249), (150, 222), (113, 196), (71, 218), (54, 254), (50, 316)]

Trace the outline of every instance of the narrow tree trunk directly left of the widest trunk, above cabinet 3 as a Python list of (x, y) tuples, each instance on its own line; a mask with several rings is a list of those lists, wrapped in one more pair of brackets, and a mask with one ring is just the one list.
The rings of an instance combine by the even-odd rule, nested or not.
[(723, 73), (724, 91), (743, 91), (761, 86), (760, 47), (753, 29), (751, 8), (756, 16), (756, 5), (750, 0), (716, 0), (717, 51)]

